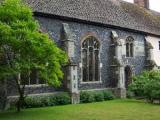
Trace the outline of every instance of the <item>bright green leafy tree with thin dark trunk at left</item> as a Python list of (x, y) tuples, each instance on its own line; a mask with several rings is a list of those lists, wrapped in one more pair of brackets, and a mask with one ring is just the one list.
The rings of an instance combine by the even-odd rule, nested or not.
[[(61, 66), (67, 57), (47, 34), (40, 32), (32, 10), (21, 0), (0, 3), (0, 79), (14, 80), (19, 93), (17, 110), (23, 107), (26, 81), (31, 70), (48, 84), (60, 86)], [(21, 75), (23, 74), (23, 79)]]

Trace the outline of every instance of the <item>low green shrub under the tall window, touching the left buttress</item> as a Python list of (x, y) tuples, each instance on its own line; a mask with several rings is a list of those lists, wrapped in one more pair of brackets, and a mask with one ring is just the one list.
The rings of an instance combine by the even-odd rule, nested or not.
[(91, 92), (81, 92), (80, 93), (80, 102), (81, 103), (91, 103), (94, 102), (94, 95)]

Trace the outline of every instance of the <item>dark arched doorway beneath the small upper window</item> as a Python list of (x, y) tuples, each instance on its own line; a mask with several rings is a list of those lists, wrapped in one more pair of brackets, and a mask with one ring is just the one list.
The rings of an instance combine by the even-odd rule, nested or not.
[(128, 89), (129, 84), (132, 82), (132, 75), (133, 75), (131, 66), (127, 65), (124, 68), (124, 75), (125, 75), (125, 88)]

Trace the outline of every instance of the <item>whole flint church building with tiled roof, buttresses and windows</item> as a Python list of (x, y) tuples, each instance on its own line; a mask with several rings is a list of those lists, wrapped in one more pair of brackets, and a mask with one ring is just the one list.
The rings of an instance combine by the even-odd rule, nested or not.
[(133, 75), (160, 68), (160, 13), (149, 9), (149, 0), (25, 1), (69, 57), (60, 90), (34, 77), (31, 94), (68, 90), (76, 103), (81, 90), (111, 89), (123, 98)]

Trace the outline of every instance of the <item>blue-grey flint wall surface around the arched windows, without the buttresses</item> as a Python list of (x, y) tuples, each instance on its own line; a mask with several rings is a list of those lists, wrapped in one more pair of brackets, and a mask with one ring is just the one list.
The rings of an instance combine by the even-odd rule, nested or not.
[[(133, 58), (126, 58), (125, 55), (122, 55), (121, 57), (124, 67), (127, 65), (132, 66), (133, 73), (139, 74), (145, 66), (144, 35), (123, 30), (111, 29), (107, 27), (98, 27), (82, 23), (61, 21), (46, 17), (36, 17), (36, 19), (40, 22), (41, 26), (49, 33), (51, 38), (53, 38), (53, 40), (55, 40), (55, 42), (59, 46), (61, 46), (62, 44), (62, 41), (60, 40), (61, 26), (63, 23), (67, 23), (69, 25), (71, 31), (75, 35), (74, 61), (78, 65), (78, 89), (80, 90), (117, 87), (118, 80), (115, 80), (113, 78), (115, 77), (115, 75), (111, 73), (111, 69), (115, 68), (114, 66), (112, 66), (113, 57), (111, 55), (114, 54), (114, 50), (112, 50), (113, 46), (111, 44), (111, 31), (116, 31), (119, 39), (125, 40), (128, 36), (132, 36), (135, 40), (135, 56)], [(100, 63), (102, 63), (103, 65), (101, 68), (101, 82), (81, 83), (81, 40), (89, 33), (96, 35), (101, 44)], [(139, 48), (141, 54), (139, 54), (137, 48)], [(123, 52), (123, 54), (124, 53), (125, 52)], [(111, 83), (113, 83), (113, 81), (115, 81), (116, 83), (112, 86)]]

